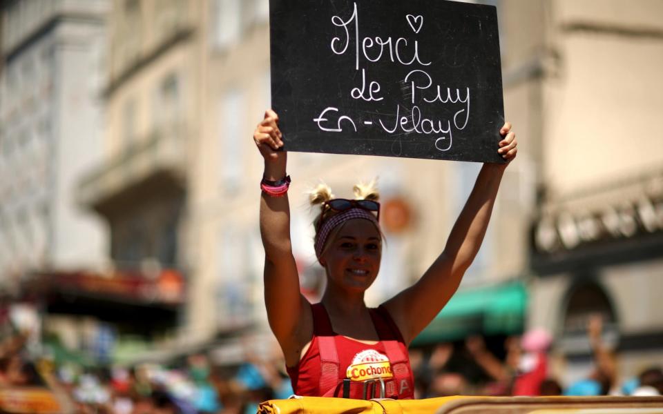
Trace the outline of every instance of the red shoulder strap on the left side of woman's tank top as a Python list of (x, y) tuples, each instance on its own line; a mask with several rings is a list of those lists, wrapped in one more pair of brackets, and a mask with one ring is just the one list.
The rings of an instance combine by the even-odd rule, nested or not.
[(336, 352), (336, 340), (332, 321), (323, 304), (311, 305), (313, 311), (313, 331), (318, 338), (318, 352), (320, 353), (320, 386), (318, 391), (323, 397), (334, 397), (338, 385), (340, 362)]

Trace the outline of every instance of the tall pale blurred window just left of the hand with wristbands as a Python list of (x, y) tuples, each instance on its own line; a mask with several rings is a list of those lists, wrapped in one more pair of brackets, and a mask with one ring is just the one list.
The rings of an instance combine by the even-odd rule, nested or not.
[(242, 182), (244, 135), (244, 92), (232, 89), (221, 101), (219, 125), (220, 181), (227, 191), (237, 190)]

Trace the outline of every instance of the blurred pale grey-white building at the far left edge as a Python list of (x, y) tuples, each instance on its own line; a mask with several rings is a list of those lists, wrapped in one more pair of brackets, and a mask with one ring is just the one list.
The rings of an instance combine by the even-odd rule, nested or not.
[(74, 196), (81, 172), (102, 154), (106, 6), (54, 0), (0, 8), (0, 297), (32, 308), (43, 303), (23, 284), (36, 272), (104, 264), (106, 228)]

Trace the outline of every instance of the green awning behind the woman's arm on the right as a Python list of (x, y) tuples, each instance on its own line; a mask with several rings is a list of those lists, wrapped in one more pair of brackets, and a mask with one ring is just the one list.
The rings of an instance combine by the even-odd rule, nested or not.
[(522, 333), (526, 307), (522, 282), (459, 290), (412, 345), (456, 341), (474, 334)]

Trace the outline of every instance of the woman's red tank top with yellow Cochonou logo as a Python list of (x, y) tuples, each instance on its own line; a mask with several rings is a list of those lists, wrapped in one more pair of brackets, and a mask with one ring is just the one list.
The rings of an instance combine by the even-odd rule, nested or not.
[(313, 338), (300, 362), (287, 368), (296, 395), (313, 397), (414, 398), (407, 346), (389, 312), (369, 309), (380, 340), (363, 344), (338, 335), (323, 304), (311, 305)]

